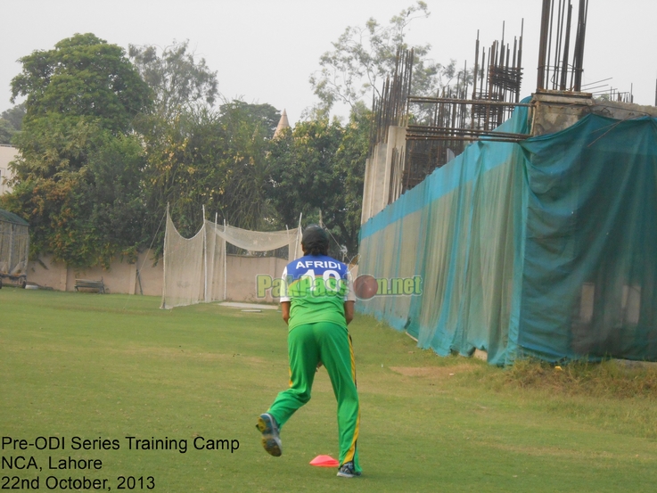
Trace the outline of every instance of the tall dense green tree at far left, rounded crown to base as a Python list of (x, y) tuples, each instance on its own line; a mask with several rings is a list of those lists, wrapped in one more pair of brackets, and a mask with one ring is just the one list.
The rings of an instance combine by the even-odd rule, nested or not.
[(4, 206), (30, 223), (31, 251), (73, 267), (134, 255), (144, 210), (143, 150), (131, 133), (151, 91), (122, 48), (93, 34), (21, 58), (12, 99), (27, 96)]

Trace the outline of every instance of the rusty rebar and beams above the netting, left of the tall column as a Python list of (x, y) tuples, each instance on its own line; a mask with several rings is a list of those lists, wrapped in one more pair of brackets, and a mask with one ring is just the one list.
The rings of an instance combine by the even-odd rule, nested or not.
[[(481, 53), (480, 53), (481, 52)], [(403, 150), (392, 149), (388, 203), (423, 181), (477, 139), (519, 142), (528, 136), (495, 131), (520, 102), (522, 81), (521, 36), (513, 47), (502, 39), (480, 50), (479, 32), (475, 63), (459, 71), (456, 86), (447, 86), (436, 97), (412, 94), (413, 51), (397, 53), (395, 70), (386, 79), (381, 98), (374, 97), (371, 155), (377, 144), (388, 144), (390, 127), (406, 129)], [(471, 92), (472, 89), (472, 92)]]

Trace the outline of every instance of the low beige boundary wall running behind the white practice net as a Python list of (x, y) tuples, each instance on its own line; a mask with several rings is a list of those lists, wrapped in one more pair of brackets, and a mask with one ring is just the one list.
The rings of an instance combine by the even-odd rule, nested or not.
[[(256, 298), (256, 276), (271, 275), (273, 278), (283, 275), (287, 265), (285, 259), (274, 257), (239, 257), (228, 255), (226, 258), (226, 299), (231, 301), (254, 301), (272, 303), (270, 293), (267, 298)], [(139, 267), (139, 277), (137, 277)], [(153, 266), (152, 252), (140, 254), (135, 264), (115, 261), (109, 270), (102, 267), (89, 269), (67, 268), (62, 263), (53, 262), (52, 256), (42, 255), (40, 261), (30, 261), (28, 265), (28, 282), (51, 287), (56, 291), (75, 291), (76, 279), (100, 280), (111, 293), (162, 295), (162, 261)], [(223, 284), (222, 284), (223, 285)], [(222, 291), (223, 294), (223, 291)]]

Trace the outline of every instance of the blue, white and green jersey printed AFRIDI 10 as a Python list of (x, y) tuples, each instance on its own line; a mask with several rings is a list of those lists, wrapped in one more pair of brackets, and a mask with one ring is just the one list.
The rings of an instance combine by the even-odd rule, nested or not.
[(292, 330), (297, 325), (332, 322), (347, 328), (344, 302), (356, 300), (349, 268), (326, 255), (306, 255), (283, 270), (281, 301), (290, 301)]

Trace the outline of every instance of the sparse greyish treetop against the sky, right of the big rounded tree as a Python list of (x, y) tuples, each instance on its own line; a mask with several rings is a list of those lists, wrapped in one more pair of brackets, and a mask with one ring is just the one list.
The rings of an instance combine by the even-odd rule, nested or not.
[(209, 70), (205, 59), (198, 62), (189, 50), (189, 40), (174, 41), (158, 55), (153, 45), (128, 45), (128, 54), (142, 78), (155, 94), (154, 112), (170, 119), (199, 104), (212, 106), (218, 96), (217, 72)]

